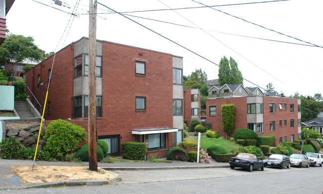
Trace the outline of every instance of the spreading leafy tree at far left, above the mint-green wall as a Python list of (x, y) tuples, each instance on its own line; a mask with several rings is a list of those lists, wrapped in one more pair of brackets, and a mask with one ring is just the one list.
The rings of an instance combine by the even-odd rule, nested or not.
[[(12, 60), (13, 66), (16, 66), (26, 59), (41, 61), (44, 59), (43, 51), (34, 44), (31, 36), (8, 33), (0, 46), (0, 63), (5, 64)], [(19, 74), (19, 71), (13, 72), (15, 78), (18, 78)]]

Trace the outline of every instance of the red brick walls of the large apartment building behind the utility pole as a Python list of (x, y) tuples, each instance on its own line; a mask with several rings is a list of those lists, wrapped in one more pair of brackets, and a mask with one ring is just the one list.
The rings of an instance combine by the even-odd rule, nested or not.
[[(74, 118), (73, 104), (73, 99), (76, 97), (73, 94), (74, 63), (75, 57), (78, 57), (74, 56), (73, 49), (76, 43), (84, 39), (88, 40), (81, 38), (56, 53), (47, 99), (51, 102), (51, 110), (48, 114), (46, 107), (44, 114), (46, 124), (54, 119), (71, 118), (70, 122), (88, 131), (88, 118)], [(102, 117), (97, 117), (97, 131), (99, 138), (100, 136), (119, 135), (120, 154), (122, 155), (121, 144), (135, 141), (132, 129), (173, 127), (172, 78), (173, 57), (175, 56), (107, 41), (100, 42), (102, 42), (103, 51)], [(44, 102), (48, 86), (47, 74), (53, 57), (33, 67), (25, 75), (26, 84), (32, 88), (38, 101), (40, 101), (40, 87), (37, 87), (37, 75), (40, 74), (41, 83), (44, 82), (41, 94), (42, 102)], [(178, 58), (182, 60), (182, 57)], [(136, 74), (136, 61), (145, 63), (144, 75)], [(136, 111), (136, 97), (145, 97), (144, 110)], [(144, 137), (147, 139), (148, 136), (142, 135), (142, 141)], [(165, 157), (167, 153), (165, 149), (172, 147), (173, 132), (169, 132), (166, 133), (165, 148), (160, 150), (161, 153), (158, 156)], [(158, 150), (155, 151), (158, 152)]]

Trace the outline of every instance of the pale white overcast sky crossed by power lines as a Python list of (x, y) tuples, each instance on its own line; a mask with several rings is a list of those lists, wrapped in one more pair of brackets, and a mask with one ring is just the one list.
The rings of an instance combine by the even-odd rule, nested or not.
[[(15, 0), (6, 15), (7, 29), (32, 36), (46, 53), (89, 37), (89, 0), (62, 2), (59, 6), (54, 0)], [(105, 6), (98, 4), (97, 39), (181, 56), (185, 76), (202, 69), (208, 80), (217, 79), (225, 56), (237, 62), (245, 87), (266, 89), (272, 83), (286, 96), (323, 94), (323, 0), (98, 2)], [(205, 7), (188, 8), (201, 6)], [(125, 16), (146, 28), (111, 9), (131, 11)]]

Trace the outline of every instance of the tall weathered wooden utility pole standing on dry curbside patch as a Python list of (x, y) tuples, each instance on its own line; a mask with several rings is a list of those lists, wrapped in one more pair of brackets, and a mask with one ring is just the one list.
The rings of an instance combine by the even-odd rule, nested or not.
[(96, 58), (97, 58), (97, 0), (90, 0), (89, 17), (89, 169), (98, 172), (96, 126)]

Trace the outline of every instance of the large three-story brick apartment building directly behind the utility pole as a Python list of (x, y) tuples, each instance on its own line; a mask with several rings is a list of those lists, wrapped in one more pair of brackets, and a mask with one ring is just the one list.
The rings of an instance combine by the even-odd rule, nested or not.
[[(89, 40), (81, 38), (25, 74), (26, 85), (44, 103), (46, 124), (65, 119), (88, 129)], [(97, 40), (97, 132), (109, 155), (124, 142), (145, 142), (147, 157), (165, 157), (183, 140), (183, 58)], [(35, 107), (40, 105), (28, 94)]]

